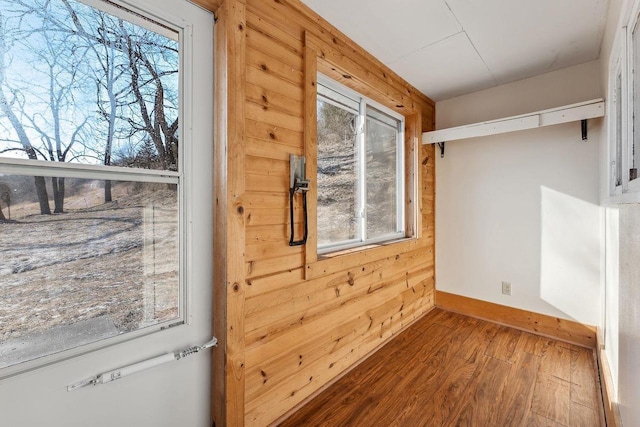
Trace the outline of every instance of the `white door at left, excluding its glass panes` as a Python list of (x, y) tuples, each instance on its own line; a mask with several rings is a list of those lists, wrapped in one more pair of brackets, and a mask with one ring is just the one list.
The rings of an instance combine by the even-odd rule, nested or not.
[[(157, 332), (84, 356), (0, 381), (0, 426), (113, 427), (207, 426), (210, 407), (211, 351), (201, 352), (105, 385), (67, 392), (69, 384), (145, 358), (199, 345), (211, 339), (213, 160), (213, 16), (183, 0), (131, 0), (164, 9), (193, 23), (193, 70), (198, 96), (193, 100), (194, 163), (192, 216), (194, 233), (188, 271), (189, 325)], [(187, 124), (185, 123), (185, 126)], [(197, 150), (197, 151), (196, 151)], [(193, 268), (191, 268), (193, 267)]]

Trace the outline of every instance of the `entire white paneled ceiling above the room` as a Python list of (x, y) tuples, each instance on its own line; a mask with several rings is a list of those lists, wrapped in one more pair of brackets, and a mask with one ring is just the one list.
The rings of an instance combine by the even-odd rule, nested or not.
[(435, 101), (598, 59), (608, 0), (302, 0)]

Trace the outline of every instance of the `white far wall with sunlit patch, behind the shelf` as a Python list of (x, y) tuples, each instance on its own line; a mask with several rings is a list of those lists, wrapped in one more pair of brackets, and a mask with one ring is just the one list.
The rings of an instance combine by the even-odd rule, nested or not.
[[(599, 62), (438, 102), (436, 128), (603, 96)], [(602, 119), (446, 144), (436, 156), (438, 290), (597, 325)], [(512, 296), (501, 282), (512, 284)]]

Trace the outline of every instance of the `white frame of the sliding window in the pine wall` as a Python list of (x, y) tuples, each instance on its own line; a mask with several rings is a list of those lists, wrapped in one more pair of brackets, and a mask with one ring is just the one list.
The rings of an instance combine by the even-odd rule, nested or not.
[[(398, 198), (396, 200), (396, 230), (392, 233), (387, 233), (383, 236), (376, 238), (367, 237), (367, 182), (366, 182), (366, 155), (358, 156), (358, 211), (356, 212), (357, 221), (357, 233), (355, 239), (345, 240), (340, 242), (332, 242), (326, 244), (318, 244), (318, 254), (327, 254), (330, 252), (340, 251), (344, 249), (350, 249), (358, 246), (365, 246), (369, 244), (376, 244), (381, 242), (398, 240), (406, 237), (406, 220), (405, 220), (405, 186), (406, 186), (406, 165), (405, 165), (405, 148), (404, 148), (404, 116), (391, 110), (384, 105), (367, 98), (364, 95), (338, 83), (337, 81), (318, 73), (318, 85), (324, 86), (339, 95), (342, 95), (350, 100), (359, 104), (358, 109), (358, 123), (357, 123), (357, 140), (356, 140), (356, 152), (366, 153), (366, 123), (367, 123), (367, 107), (372, 107), (385, 115), (398, 121), (397, 136), (396, 136), (396, 194)], [(328, 102), (345, 108), (343, 105), (338, 105), (335, 101), (327, 98), (318, 93), (318, 99), (324, 102)], [(354, 111), (355, 112), (355, 111)]]

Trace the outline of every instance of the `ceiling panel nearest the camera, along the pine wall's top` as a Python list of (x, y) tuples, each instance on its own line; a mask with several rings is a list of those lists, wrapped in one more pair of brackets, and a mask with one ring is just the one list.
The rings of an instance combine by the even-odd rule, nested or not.
[(384, 63), (460, 32), (458, 21), (443, 0), (304, 3)]

